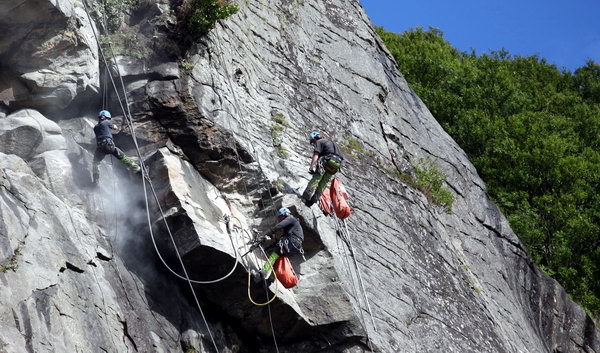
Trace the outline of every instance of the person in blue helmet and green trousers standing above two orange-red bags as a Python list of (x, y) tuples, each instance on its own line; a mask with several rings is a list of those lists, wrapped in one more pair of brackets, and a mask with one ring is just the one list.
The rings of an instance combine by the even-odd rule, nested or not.
[(340, 170), (344, 157), (338, 145), (323, 138), (320, 132), (311, 132), (308, 140), (315, 146), (308, 169), (308, 173), (313, 177), (304, 189), (301, 199), (310, 207), (319, 200), (331, 177)]

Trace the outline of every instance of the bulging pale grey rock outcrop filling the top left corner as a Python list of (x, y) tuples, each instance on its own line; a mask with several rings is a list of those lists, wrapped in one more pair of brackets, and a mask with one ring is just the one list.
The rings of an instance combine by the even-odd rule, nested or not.
[(83, 6), (72, 0), (0, 4), (0, 101), (60, 110), (98, 91), (98, 53)]

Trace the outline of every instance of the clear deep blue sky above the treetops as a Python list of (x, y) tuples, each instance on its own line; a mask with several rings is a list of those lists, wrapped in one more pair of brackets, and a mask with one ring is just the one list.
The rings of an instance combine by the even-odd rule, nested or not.
[(388, 31), (433, 26), (463, 51), (538, 54), (574, 71), (600, 63), (600, 0), (360, 0)]

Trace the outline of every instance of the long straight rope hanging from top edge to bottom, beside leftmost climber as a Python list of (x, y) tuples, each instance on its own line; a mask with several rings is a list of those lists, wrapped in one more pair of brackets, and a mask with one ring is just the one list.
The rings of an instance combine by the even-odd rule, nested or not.
[[(84, 6), (84, 9), (85, 9), (85, 12), (86, 12), (86, 15), (87, 15), (88, 21), (89, 21), (89, 23), (90, 23), (90, 26), (92, 27), (92, 33), (94, 34), (94, 38), (95, 38), (95, 40), (96, 40), (96, 45), (98, 45), (98, 49), (99, 49), (99, 52), (100, 52), (100, 54), (101, 54), (101, 56), (102, 56), (102, 60), (104, 61), (104, 64), (105, 64), (105, 65), (108, 67), (107, 60), (106, 60), (106, 57), (105, 57), (105, 55), (104, 55), (104, 51), (102, 50), (102, 47), (100, 46), (100, 41), (98, 40), (98, 35), (97, 35), (97, 33), (96, 33), (96, 29), (95, 29), (95, 27), (94, 27), (94, 24), (93, 24), (92, 18), (91, 18), (91, 16), (90, 16), (90, 13), (89, 13), (89, 9), (88, 9), (87, 3), (86, 3), (86, 1), (85, 1), (85, 0), (82, 0), (82, 2), (83, 2), (83, 6)], [(111, 50), (112, 50), (112, 49), (111, 49)], [(114, 59), (114, 55), (113, 55), (113, 59)], [(117, 70), (118, 70), (118, 65), (117, 65)], [(146, 215), (147, 215), (147, 217), (146, 217), (146, 218), (147, 218), (147, 221), (148, 221), (148, 227), (149, 227), (149, 229), (150, 229), (150, 233), (152, 234), (152, 221), (151, 221), (151, 219), (150, 219), (150, 205), (149, 205), (149, 202), (148, 202), (148, 194), (147, 194), (147, 189), (146, 189), (146, 180), (148, 180), (148, 182), (149, 182), (149, 185), (150, 185), (150, 186), (152, 186), (152, 184), (150, 183), (150, 180), (149, 180), (150, 178), (147, 176), (147, 170), (146, 170), (146, 168), (145, 168), (145, 165), (144, 165), (144, 163), (143, 163), (142, 154), (141, 154), (141, 151), (140, 151), (140, 149), (139, 149), (139, 145), (138, 145), (138, 143), (137, 143), (137, 139), (136, 139), (136, 137), (135, 137), (135, 131), (134, 131), (134, 129), (133, 129), (133, 124), (132, 124), (132, 122), (131, 122), (131, 113), (130, 113), (130, 111), (129, 111), (129, 101), (128, 101), (128, 99), (127, 99), (127, 91), (125, 90), (125, 85), (124, 85), (124, 83), (123, 83), (123, 78), (122, 78), (122, 76), (121, 76), (121, 73), (120, 73), (120, 71), (117, 71), (117, 72), (118, 72), (119, 78), (121, 79), (121, 85), (122, 85), (122, 87), (123, 87), (123, 93), (124, 93), (125, 103), (126, 103), (126, 105), (127, 105), (127, 112), (125, 112), (125, 109), (123, 108), (123, 104), (122, 104), (122, 102), (121, 102), (121, 99), (120, 99), (120, 97), (119, 97), (119, 94), (118, 94), (118, 90), (117, 90), (116, 84), (115, 84), (115, 82), (114, 82), (114, 79), (113, 79), (113, 77), (112, 77), (112, 74), (110, 73), (110, 71), (109, 71), (109, 77), (110, 77), (111, 83), (112, 83), (112, 85), (113, 85), (113, 88), (115, 89), (115, 93), (117, 94), (117, 98), (118, 98), (118, 100), (119, 100), (119, 105), (121, 106), (121, 109), (123, 110), (123, 114), (125, 115), (125, 118), (126, 118), (126, 120), (128, 121), (128, 124), (130, 125), (131, 134), (132, 134), (132, 137), (133, 137), (133, 142), (134, 142), (134, 145), (135, 145), (136, 151), (137, 151), (137, 153), (138, 153), (138, 156), (139, 156), (139, 158), (140, 158), (140, 165), (142, 166), (142, 168), (141, 168), (141, 172), (142, 172), (142, 173), (141, 173), (141, 174), (142, 174), (142, 182), (143, 182), (143, 183), (142, 183), (142, 185), (143, 185), (143, 189), (144, 189), (144, 198), (145, 198), (145, 204), (146, 204)], [(127, 113), (129, 113), (129, 115), (127, 115)], [(155, 196), (155, 198), (156, 198), (156, 193), (155, 193), (155, 191), (154, 191), (154, 188), (152, 188), (152, 191), (153, 191), (153, 193), (154, 193), (154, 196)], [(157, 198), (156, 198), (156, 199), (157, 199)], [(159, 204), (159, 205), (160, 205), (160, 204)], [(165, 220), (165, 223), (166, 223), (166, 219), (165, 219), (165, 217), (164, 217), (164, 214), (162, 214), (162, 218), (163, 218), (163, 220)], [(173, 238), (172, 234), (170, 234), (170, 233), (169, 233), (169, 236), (171, 237), (171, 241), (172, 241), (172, 243), (173, 243), (173, 246), (174, 246), (174, 248), (175, 248), (175, 252), (176, 252), (176, 254), (177, 254), (177, 258), (178, 258), (178, 260), (179, 260), (179, 263), (181, 264), (181, 267), (182, 267), (182, 269), (183, 269), (183, 272), (184, 272), (184, 274), (185, 274), (185, 277), (186, 277), (186, 279), (187, 279), (188, 285), (189, 285), (189, 287), (190, 287), (190, 289), (191, 289), (191, 291), (192, 291), (192, 295), (193, 295), (193, 297), (194, 297), (194, 300), (195, 300), (195, 302), (196, 302), (196, 305), (198, 306), (198, 310), (200, 311), (200, 315), (202, 316), (202, 320), (204, 321), (204, 324), (206, 325), (206, 329), (207, 329), (207, 331), (208, 331), (208, 334), (209, 334), (209, 336), (210, 336), (210, 339), (211, 339), (211, 341), (212, 341), (212, 344), (213, 344), (213, 346), (214, 346), (214, 348), (215, 348), (215, 351), (216, 351), (216, 352), (219, 352), (219, 348), (217, 347), (217, 344), (216, 344), (216, 342), (215, 342), (215, 339), (214, 339), (214, 337), (213, 337), (213, 334), (212, 334), (212, 332), (211, 332), (211, 330), (210, 330), (210, 326), (208, 325), (208, 322), (207, 322), (207, 320), (206, 320), (206, 317), (204, 316), (204, 312), (203, 312), (203, 310), (202, 310), (202, 307), (201, 307), (201, 305), (200, 305), (200, 301), (198, 300), (198, 297), (197, 297), (197, 295), (196, 295), (196, 291), (194, 290), (194, 286), (192, 285), (192, 282), (190, 281), (189, 275), (188, 275), (188, 273), (187, 273), (187, 270), (186, 270), (186, 268), (185, 268), (185, 264), (183, 263), (183, 259), (181, 258), (181, 254), (179, 253), (179, 249), (177, 248), (177, 244), (175, 243), (175, 239)]]

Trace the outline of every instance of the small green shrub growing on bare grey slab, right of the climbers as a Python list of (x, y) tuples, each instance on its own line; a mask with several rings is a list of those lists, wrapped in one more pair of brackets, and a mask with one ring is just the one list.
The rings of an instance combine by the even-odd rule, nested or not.
[(421, 191), (429, 202), (442, 206), (446, 213), (451, 214), (454, 194), (444, 187), (448, 176), (427, 158), (420, 159), (414, 166), (414, 171), (415, 176), (401, 173), (398, 169), (394, 173), (400, 180)]

